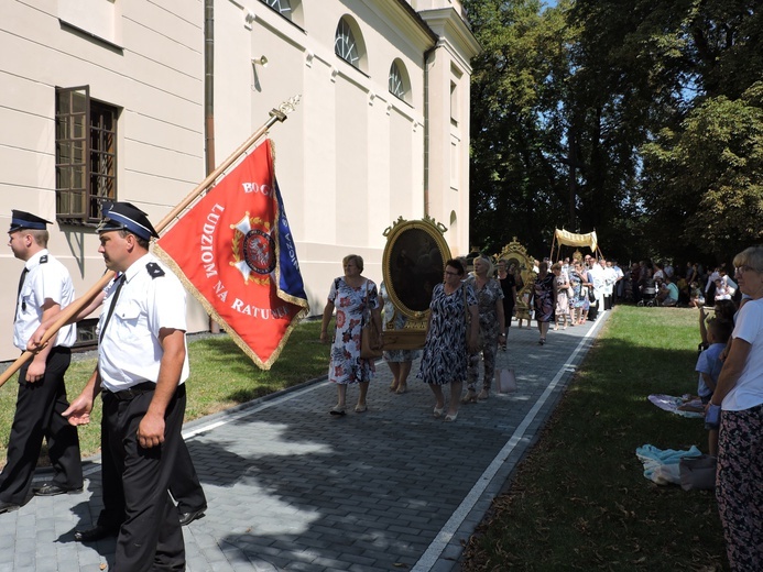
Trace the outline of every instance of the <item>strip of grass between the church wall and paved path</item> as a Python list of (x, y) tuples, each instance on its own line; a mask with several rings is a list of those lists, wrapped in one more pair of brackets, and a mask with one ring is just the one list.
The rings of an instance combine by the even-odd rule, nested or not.
[[(262, 371), (227, 336), (194, 340), (188, 344), (190, 377), (185, 420), (250, 402), (285, 387), (320, 377), (328, 372), (328, 348), (319, 341), (320, 322), (305, 321), (297, 326), (270, 371)], [(66, 387), (73, 399), (87, 383), (96, 360), (72, 363), (66, 373)], [(6, 448), (15, 409), (18, 375), (0, 387), (0, 463), (6, 463)], [(100, 447), (100, 404), (94, 409), (90, 425), (79, 428), (84, 458)], [(43, 447), (40, 464), (47, 464)]]

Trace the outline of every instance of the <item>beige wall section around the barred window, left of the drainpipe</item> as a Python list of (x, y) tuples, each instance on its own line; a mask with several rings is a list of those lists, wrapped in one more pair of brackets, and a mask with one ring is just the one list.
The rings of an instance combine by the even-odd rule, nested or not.
[[(118, 189), (159, 221), (204, 178), (203, 4), (200, 0), (117, 2), (119, 12), (77, 20), (92, 0), (0, 2), (0, 228), (11, 209), (55, 221), (55, 88), (88, 85), (90, 97), (121, 109)], [(107, 2), (102, 2), (105, 4)], [(99, 4), (100, 6), (100, 4)], [(72, 9), (74, 12), (72, 12)], [(61, 11), (61, 12), (59, 12)], [(12, 56), (11, 56), (12, 55)], [(102, 274), (91, 229), (48, 227), (50, 250), (69, 270), (78, 294)], [(4, 239), (3, 239), (4, 240)], [(23, 265), (0, 250), (0, 359), (18, 355), (12, 320)], [(190, 320), (206, 327), (194, 306)]]

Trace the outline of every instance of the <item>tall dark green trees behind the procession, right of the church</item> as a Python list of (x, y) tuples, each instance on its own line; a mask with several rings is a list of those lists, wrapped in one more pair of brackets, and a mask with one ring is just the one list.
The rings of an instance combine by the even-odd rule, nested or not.
[[(694, 260), (755, 237), (756, 0), (465, 6), (484, 47), (472, 76), (472, 243), (495, 251), (516, 235), (538, 255), (566, 226), (596, 229), (621, 260)], [(731, 215), (743, 221), (712, 218)]]

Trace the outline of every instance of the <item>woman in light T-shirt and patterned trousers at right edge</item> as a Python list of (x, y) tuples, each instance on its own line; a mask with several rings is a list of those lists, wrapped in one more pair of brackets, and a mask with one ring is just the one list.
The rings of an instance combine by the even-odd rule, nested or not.
[(742, 294), (731, 349), (708, 407), (720, 406), (716, 497), (729, 564), (763, 570), (763, 246), (734, 256)]

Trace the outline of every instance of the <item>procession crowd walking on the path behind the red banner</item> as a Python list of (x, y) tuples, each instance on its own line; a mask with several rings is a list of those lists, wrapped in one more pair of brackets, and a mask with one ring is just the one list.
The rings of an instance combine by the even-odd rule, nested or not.
[[(533, 282), (526, 285), (528, 296), (520, 299), (525, 284), (514, 262), (500, 260), (493, 266), (488, 256), (478, 255), (472, 264), (473, 272), (468, 274), (466, 260), (446, 262), (443, 282), (436, 284), (430, 294), (422, 351), (388, 349), (383, 352), (393, 374), (390, 391), (396, 394), (407, 392), (413, 362), (421, 355), (415, 377), (426, 383), (433, 393), (432, 415), (449, 422), (458, 418), (459, 404), (473, 404), (490, 397), (497, 359), (499, 352), (508, 349), (512, 319), (517, 319), (521, 327), (520, 306), (536, 321), (538, 344), (544, 345), (552, 323), (554, 330), (565, 330), (593, 319), (591, 308), (610, 304), (607, 300), (615, 283), (614, 277), (608, 282), (606, 262), (599, 263), (590, 256), (585, 260), (585, 266), (584, 261), (577, 260), (571, 264), (560, 261), (551, 267), (548, 261), (542, 261), (533, 268)], [(595, 266), (601, 268), (601, 276)], [(394, 306), (385, 284), (378, 287), (362, 276), (361, 256), (346, 256), (342, 268), (344, 275), (329, 288), (320, 328), (320, 340), (331, 345), (328, 377), (337, 385), (337, 403), (329, 414), (335, 417), (347, 413), (350, 385), (359, 387), (355, 411), (368, 410), (368, 387), (375, 372), (375, 360), (362, 354), (364, 327), (372, 323), (381, 328), (379, 324), (383, 323), (386, 330), (401, 330), (407, 320)], [(448, 395), (444, 392), (446, 385), (449, 386)]]

